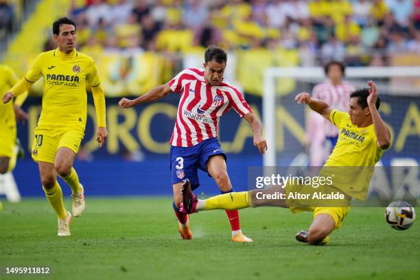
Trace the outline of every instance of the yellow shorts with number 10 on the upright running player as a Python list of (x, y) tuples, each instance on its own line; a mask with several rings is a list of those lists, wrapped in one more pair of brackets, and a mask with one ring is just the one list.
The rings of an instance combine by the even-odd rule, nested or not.
[(34, 143), (32, 144), (32, 159), (36, 162), (54, 163), (56, 153), (62, 147), (69, 148), (77, 154), (83, 137), (84, 131), (75, 128), (54, 132), (36, 130)]

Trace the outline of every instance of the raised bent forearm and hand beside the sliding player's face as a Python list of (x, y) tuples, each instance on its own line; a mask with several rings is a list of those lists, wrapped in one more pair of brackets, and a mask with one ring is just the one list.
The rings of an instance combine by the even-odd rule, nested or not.
[(377, 145), (380, 146), (382, 150), (386, 150), (390, 147), (390, 131), (386, 126), (384, 120), (382, 119), (380, 113), (377, 111), (376, 108), (376, 100), (379, 96), (379, 93), (376, 89), (376, 85), (374, 82), (369, 81), (369, 96), (367, 98), (369, 111), (372, 115), (373, 120), (373, 127), (375, 128), (375, 135), (377, 139)]

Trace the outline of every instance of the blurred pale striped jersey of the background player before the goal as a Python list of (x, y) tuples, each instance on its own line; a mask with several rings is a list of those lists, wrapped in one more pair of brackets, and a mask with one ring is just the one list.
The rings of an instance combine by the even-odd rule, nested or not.
[[(323, 100), (329, 106), (336, 110), (347, 112), (349, 110), (350, 94), (355, 91), (353, 85), (348, 82), (341, 82), (338, 86), (334, 86), (329, 81), (322, 82), (314, 86), (312, 97)], [(331, 122), (324, 119), (325, 135), (327, 137), (338, 136), (338, 129)]]

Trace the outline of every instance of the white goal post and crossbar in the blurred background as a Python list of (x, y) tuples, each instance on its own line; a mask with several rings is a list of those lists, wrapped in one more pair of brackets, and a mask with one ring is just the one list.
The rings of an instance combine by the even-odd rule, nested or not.
[[(346, 78), (420, 78), (420, 67), (347, 67)], [(264, 166), (276, 166), (276, 78), (318, 79), (325, 78), (322, 67), (270, 67), (264, 71), (263, 121), (268, 151), (264, 154)], [(412, 92), (416, 96), (420, 92)]]

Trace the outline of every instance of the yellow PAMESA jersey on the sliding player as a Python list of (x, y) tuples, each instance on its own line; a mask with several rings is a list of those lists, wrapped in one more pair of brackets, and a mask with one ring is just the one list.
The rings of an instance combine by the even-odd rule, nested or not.
[(331, 110), (329, 119), (340, 134), (320, 174), (331, 176), (332, 185), (345, 194), (364, 200), (374, 166), (384, 152), (377, 144), (375, 128), (373, 124), (359, 128), (351, 124), (348, 113), (339, 110)]

